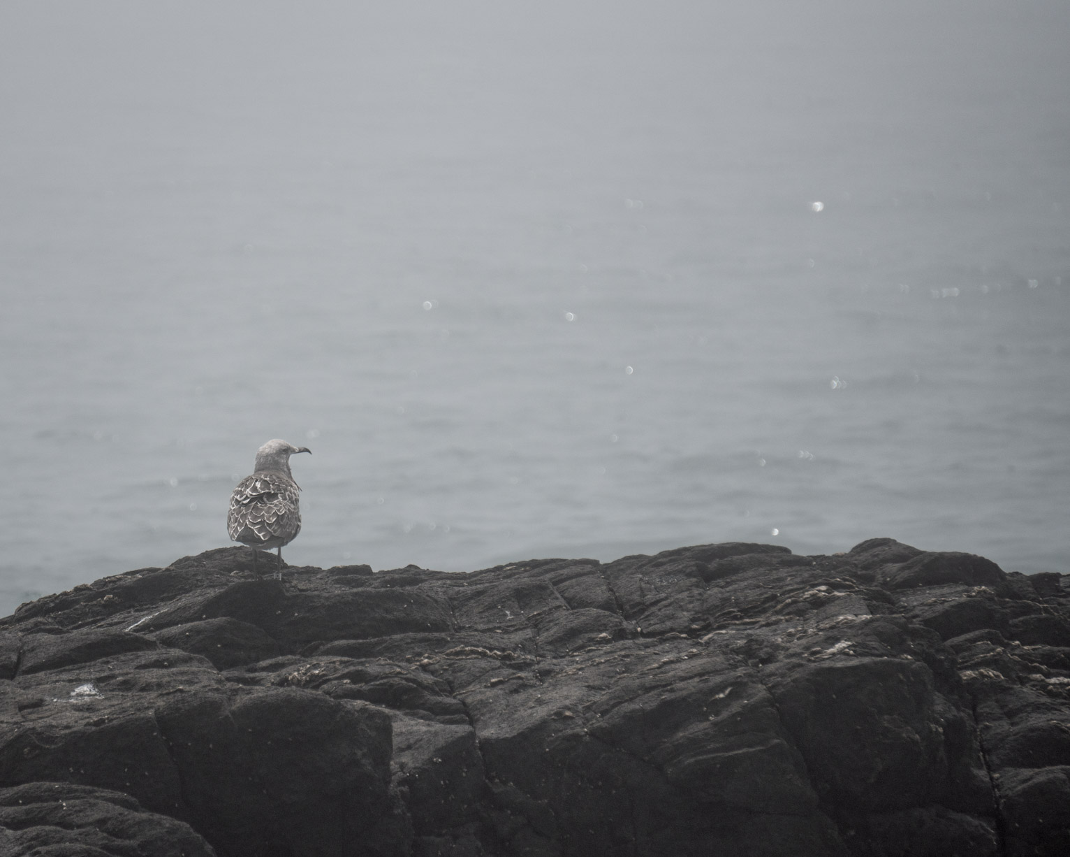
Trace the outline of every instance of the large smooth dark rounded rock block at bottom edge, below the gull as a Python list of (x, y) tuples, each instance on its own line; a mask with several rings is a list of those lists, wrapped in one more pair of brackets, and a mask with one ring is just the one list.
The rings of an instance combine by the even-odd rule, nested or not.
[(389, 718), (303, 690), (187, 693), (156, 718), (220, 855), (345, 855), (389, 802)]

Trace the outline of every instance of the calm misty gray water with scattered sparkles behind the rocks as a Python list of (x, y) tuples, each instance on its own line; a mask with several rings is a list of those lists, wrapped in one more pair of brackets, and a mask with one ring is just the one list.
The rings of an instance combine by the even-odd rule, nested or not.
[(292, 563), (1070, 571), (1068, 35), (1058, 0), (3, 3), (0, 613), (227, 544), (273, 437), (314, 452)]

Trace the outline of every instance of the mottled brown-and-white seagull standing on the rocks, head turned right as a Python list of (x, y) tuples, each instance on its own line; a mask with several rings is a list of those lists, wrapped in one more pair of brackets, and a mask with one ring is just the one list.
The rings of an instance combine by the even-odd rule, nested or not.
[(253, 548), (253, 571), (257, 577), (257, 548), (278, 548), (278, 567), (274, 577), (282, 580), (282, 545), (301, 532), (301, 509), (297, 498), (301, 486), (290, 473), (290, 456), (311, 450), (294, 447), (285, 440), (269, 440), (257, 450), (253, 475), (245, 477), (230, 495), (227, 532), (232, 542)]

